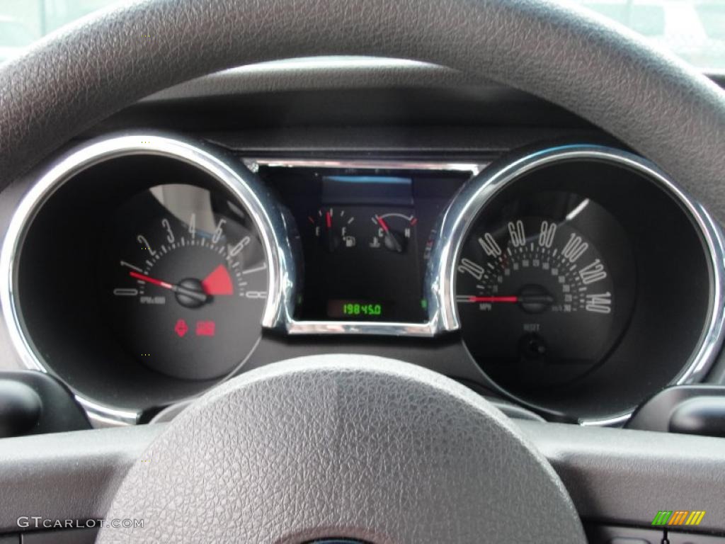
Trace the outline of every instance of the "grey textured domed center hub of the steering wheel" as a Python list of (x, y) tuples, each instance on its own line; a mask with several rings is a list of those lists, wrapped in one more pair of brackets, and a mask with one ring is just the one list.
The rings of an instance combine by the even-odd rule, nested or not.
[(288, 360), (218, 387), (141, 455), (100, 543), (583, 543), (562, 483), (502, 413), (392, 359)]

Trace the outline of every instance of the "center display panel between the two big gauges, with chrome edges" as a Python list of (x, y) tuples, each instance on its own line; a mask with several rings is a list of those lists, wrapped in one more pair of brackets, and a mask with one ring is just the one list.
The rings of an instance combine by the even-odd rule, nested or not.
[[(247, 160), (291, 211), (302, 288), (291, 333), (423, 333), (435, 226), (482, 165), (443, 162)], [(357, 324), (355, 324), (357, 323)], [(393, 323), (397, 323), (397, 326)]]

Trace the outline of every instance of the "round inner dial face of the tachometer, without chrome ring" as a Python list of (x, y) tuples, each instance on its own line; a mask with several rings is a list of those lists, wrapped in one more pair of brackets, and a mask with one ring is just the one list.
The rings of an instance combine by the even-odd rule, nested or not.
[(265, 253), (224, 194), (189, 185), (143, 191), (117, 210), (101, 289), (120, 343), (186, 379), (227, 374), (260, 336)]

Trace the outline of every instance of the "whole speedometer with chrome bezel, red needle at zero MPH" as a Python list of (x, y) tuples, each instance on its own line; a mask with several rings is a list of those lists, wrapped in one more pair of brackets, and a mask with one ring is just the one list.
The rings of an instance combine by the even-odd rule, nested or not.
[(445, 325), (486, 387), (546, 416), (625, 421), (703, 376), (721, 342), (720, 231), (642, 157), (513, 155), (463, 187), (440, 233)]

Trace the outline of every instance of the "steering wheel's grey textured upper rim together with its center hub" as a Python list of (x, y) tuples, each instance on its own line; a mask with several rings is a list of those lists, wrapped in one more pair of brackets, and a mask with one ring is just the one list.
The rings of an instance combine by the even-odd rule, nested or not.
[[(148, 0), (0, 67), (0, 186), (115, 110), (215, 70), (363, 54), (433, 62), (555, 102), (657, 162), (725, 219), (725, 96), (548, 0)], [(560, 480), (481, 397), (405, 363), (276, 363), (227, 382), (131, 469), (101, 543), (582, 543)]]

